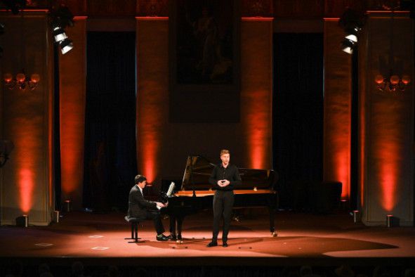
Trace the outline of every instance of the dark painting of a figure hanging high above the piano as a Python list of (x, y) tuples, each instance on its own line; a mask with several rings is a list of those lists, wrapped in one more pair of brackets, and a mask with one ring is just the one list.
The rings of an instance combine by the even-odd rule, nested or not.
[[(171, 1), (171, 62), (177, 84), (233, 84), (237, 68), (235, 1)], [(230, 20), (235, 18), (235, 20)]]

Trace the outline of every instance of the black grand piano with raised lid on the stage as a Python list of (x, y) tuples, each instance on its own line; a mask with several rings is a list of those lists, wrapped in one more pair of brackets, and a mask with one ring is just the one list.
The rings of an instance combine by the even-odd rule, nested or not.
[[(187, 157), (183, 181), (176, 184), (176, 190), (169, 197), (169, 205), (164, 210), (169, 214), (170, 233), (178, 241), (182, 240), (183, 220), (189, 214), (212, 209), (213, 186), (209, 176), (213, 170), (206, 157), (194, 155)], [(274, 212), (277, 207), (277, 192), (273, 190), (277, 174), (271, 169), (239, 168), (242, 184), (235, 188), (235, 207), (268, 207), (270, 213), (270, 232), (277, 236)], [(162, 188), (164, 191), (165, 188)]]

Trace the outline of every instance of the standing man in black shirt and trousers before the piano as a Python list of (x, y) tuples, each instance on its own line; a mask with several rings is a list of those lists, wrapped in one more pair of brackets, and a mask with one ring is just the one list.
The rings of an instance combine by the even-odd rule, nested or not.
[(230, 228), (230, 218), (234, 202), (233, 188), (241, 184), (241, 176), (235, 165), (230, 165), (230, 151), (220, 150), (219, 165), (215, 165), (209, 178), (209, 183), (216, 188), (213, 196), (213, 236), (212, 241), (206, 245), (213, 247), (218, 245), (218, 233), (220, 219), (223, 216), (222, 246), (228, 247), (228, 233)]

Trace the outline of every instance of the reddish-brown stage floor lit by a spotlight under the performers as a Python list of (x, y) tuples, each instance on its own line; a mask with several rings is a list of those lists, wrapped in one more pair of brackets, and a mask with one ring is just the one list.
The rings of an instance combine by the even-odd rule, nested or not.
[[(257, 215), (255, 215), (257, 214)], [(144, 243), (128, 243), (131, 236), (124, 214), (70, 212), (51, 226), (0, 227), (0, 257), (25, 258), (116, 258), (125, 264), (233, 264), (286, 265), (341, 264), (344, 259), (367, 263), (373, 259), (408, 261), (415, 258), (414, 227), (367, 227), (354, 224), (346, 212), (311, 214), (277, 212), (277, 237), (269, 231), (268, 216), (245, 211), (241, 221), (232, 221), (229, 247), (207, 248), (211, 238), (212, 215), (202, 212), (187, 217), (183, 224), (183, 243), (158, 242), (152, 221), (139, 228)], [(166, 230), (169, 220), (163, 220)], [(166, 232), (168, 234), (168, 232)], [(362, 259), (362, 258), (370, 258)], [(343, 260), (342, 260), (343, 259)], [(143, 259), (139, 259), (144, 261)], [(319, 262), (320, 261), (320, 262)], [(360, 261), (360, 262), (357, 262)], [(121, 262), (122, 263), (122, 262)]]

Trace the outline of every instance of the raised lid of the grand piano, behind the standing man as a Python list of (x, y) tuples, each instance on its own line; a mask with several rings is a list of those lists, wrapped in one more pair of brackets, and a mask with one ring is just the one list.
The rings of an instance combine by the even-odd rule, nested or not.
[[(188, 156), (183, 174), (182, 191), (208, 191), (212, 188), (209, 176), (215, 165), (201, 155)], [(272, 169), (239, 168), (242, 185), (235, 189), (268, 188), (277, 181), (277, 174)]]

